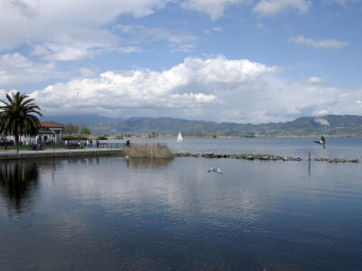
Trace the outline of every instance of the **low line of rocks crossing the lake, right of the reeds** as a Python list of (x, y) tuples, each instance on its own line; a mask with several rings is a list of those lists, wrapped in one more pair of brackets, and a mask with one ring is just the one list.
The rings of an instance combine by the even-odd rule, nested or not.
[[(190, 153), (176, 153), (179, 157), (203, 157), (203, 158), (231, 158), (243, 160), (262, 160), (262, 161), (302, 161), (300, 157), (280, 156), (271, 154), (190, 154)], [(306, 159), (308, 161), (308, 159)], [(311, 161), (311, 160), (310, 160)], [(359, 163), (358, 159), (329, 159), (329, 158), (315, 158), (314, 161), (329, 162), (329, 163)]]

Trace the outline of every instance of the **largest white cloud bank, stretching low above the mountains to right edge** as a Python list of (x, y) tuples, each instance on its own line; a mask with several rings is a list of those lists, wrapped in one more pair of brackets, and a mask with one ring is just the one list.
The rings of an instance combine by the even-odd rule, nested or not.
[[(107, 71), (33, 91), (45, 115), (97, 113), (270, 122), (362, 114), (362, 91), (290, 82), (279, 69), (247, 60), (187, 58), (169, 70)], [(88, 77), (90, 76), (90, 77)]]

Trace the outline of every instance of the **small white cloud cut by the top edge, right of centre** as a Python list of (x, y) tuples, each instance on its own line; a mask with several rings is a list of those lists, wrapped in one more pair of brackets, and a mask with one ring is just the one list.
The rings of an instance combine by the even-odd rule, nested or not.
[(271, 16), (287, 11), (307, 13), (311, 2), (306, 0), (261, 0), (253, 11), (261, 16)]

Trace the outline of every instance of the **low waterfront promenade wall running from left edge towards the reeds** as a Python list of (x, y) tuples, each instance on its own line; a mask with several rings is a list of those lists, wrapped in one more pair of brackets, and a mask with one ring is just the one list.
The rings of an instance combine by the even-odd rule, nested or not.
[(123, 148), (84, 148), (84, 149), (45, 149), (39, 151), (0, 150), (0, 160), (18, 160), (33, 158), (77, 157), (122, 154)]

